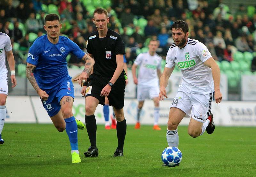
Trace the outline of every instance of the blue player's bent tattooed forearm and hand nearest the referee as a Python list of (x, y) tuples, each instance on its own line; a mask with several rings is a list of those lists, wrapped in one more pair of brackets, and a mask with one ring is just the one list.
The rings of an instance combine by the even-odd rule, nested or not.
[(79, 82), (79, 85), (81, 85), (81, 87), (83, 86), (83, 83), (87, 81), (87, 78), (91, 74), (91, 71), (94, 65), (94, 59), (92, 58), (92, 54), (89, 54), (89, 55), (84, 54), (84, 57), (82, 59), (85, 60), (84, 70), (80, 74), (80, 76), (74, 79), (74, 81)]

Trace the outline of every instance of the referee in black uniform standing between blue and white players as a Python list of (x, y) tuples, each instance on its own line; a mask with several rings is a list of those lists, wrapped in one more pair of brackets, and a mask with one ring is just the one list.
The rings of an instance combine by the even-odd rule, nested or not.
[[(116, 132), (118, 146), (113, 156), (124, 156), (124, 139), (126, 134), (126, 120), (124, 118), (124, 42), (115, 31), (108, 29), (108, 12), (98, 8), (93, 12), (93, 23), (97, 31), (89, 34), (86, 49), (88, 55), (94, 59), (93, 74), (89, 77), (89, 84), (85, 92), (85, 123), (91, 142), (85, 157), (97, 157), (95, 109), (98, 104), (104, 105), (105, 96), (109, 106), (113, 106), (116, 115)], [(86, 72), (86, 71), (85, 71)], [(84, 84), (85, 85), (85, 84)], [(83, 92), (83, 90), (82, 90)]]

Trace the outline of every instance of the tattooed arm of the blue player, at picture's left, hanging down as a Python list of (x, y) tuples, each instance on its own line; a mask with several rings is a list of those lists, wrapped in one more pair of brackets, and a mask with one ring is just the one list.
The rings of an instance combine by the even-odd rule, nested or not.
[(31, 83), (31, 85), (35, 88), (36, 93), (40, 96), (40, 98), (42, 100), (47, 100), (48, 99), (47, 93), (44, 90), (42, 90), (41, 88), (39, 88), (39, 86), (36, 82), (36, 78), (33, 73), (34, 69), (36, 69), (35, 65), (27, 63), (26, 76), (27, 76), (29, 82)]

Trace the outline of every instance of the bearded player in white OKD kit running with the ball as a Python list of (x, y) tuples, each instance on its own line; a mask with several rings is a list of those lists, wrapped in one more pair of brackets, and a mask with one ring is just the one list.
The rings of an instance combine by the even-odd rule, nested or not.
[[(188, 24), (177, 20), (171, 27), (174, 44), (166, 56), (166, 65), (160, 78), (159, 100), (166, 96), (165, 87), (177, 65), (182, 73), (182, 83), (172, 101), (167, 123), (166, 139), (169, 146), (178, 147), (178, 125), (186, 114), (191, 116), (188, 134), (193, 138), (214, 131), (211, 113), (212, 97), (216, 103), (222, 100), (220, 92), (220, 68), (205, 45), (188, 38)], [(215, 95), (214, 95), (215, 91)]]

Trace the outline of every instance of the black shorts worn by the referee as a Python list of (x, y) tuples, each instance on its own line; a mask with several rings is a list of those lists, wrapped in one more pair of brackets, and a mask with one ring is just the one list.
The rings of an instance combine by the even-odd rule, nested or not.
[[(105, 105), (105, 96), (100, 96), (102, 89), (108, 84), (111, 78), (102, 77), (99, 75), (91, 74), (89, 77), (88, 89), (91, 86), (90, 90), (86, 91), (86, 96), (93, 96), (100, 101), (100, 104)], [(108, 101), (109, 106), (114, 106), (116, 109), (122, 109), (124, 107), (124, 89), (125, 89), (125, 80), (124, 76), (120, 76), (115, 84), (112, 86), (109, 93)]]

